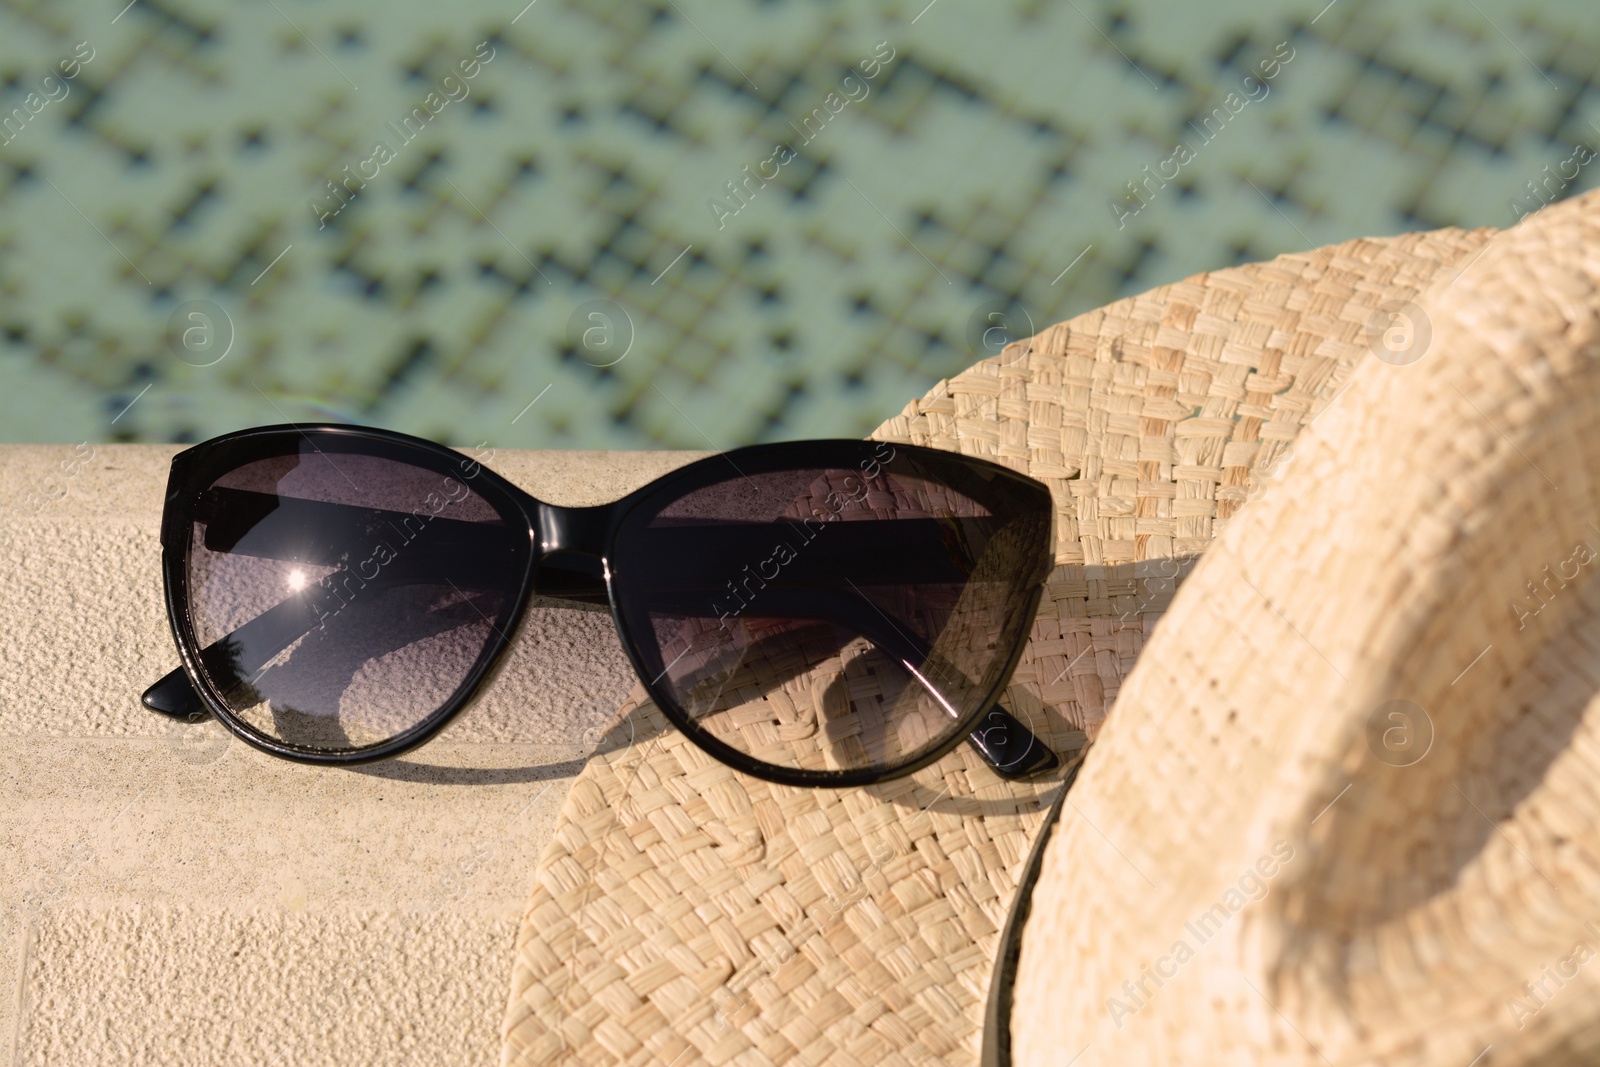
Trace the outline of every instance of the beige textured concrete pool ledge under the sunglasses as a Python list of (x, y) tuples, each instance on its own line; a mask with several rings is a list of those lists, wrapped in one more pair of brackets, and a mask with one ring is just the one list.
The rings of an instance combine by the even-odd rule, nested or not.
[[(174, 446), (0, 446), (0, 1054), (488, 1064), (534, 861), (634, 685), (605, 613), (534, 605), (413, 755), (306, 768), (139, 705), (176, 661)], [(598, 504), (699, 453), (499, 453)]]

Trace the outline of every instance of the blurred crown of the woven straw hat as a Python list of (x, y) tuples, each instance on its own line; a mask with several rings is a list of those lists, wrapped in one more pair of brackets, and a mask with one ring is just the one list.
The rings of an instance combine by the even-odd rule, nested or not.
[(1590, 194), (1435, 282), (1206, 552), (1050, 843), (1018, 1062), (1600, 1062), (1597, 248)]

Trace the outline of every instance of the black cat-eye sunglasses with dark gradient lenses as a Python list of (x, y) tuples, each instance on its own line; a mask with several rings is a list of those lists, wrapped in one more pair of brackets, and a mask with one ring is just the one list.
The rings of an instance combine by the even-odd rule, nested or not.
[(757, 445), (557, 507), (403, 434), (240, 430), (173, 458), (182, 667), (144, 704), (288, 760), (382, 760), (437, 734), (552, 597), (610, 605), (662, 713), (747, 774), (866, 785), (966, 737), (1027, 777), (1059, 760), (995, 701), (1053, 515), (1032, 478), (888, 442)]

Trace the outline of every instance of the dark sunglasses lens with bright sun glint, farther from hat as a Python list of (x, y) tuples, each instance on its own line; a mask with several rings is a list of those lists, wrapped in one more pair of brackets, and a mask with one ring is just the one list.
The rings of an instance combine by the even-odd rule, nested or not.
[(229, 710), (277, 741), (350, 750), (454, 696), (504, 629), (520, 568), (512, 528), (445, 462), (306, 451), (206, 490), (187, 577)]

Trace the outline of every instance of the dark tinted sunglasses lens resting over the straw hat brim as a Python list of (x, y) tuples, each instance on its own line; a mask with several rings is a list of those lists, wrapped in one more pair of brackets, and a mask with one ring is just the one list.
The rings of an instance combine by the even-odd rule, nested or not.
[(619, 531), (619, 608), (659, 686), (774, 766), (891, 769), (944, 744), (1026, 638), (1048, 494), (904, 454), (730, 475)]

